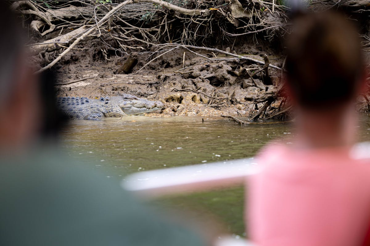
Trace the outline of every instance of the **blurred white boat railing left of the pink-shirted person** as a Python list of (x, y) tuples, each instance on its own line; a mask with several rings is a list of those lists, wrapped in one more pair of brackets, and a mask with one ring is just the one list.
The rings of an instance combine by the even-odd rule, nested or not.
[[(259, 172), (253, 158), (140, 171), (122, 180), (121, 186), (143, 198), (205, 191), (240, 185)], [(255, 246), (245, 239), (220, 236), (214, 246)]]

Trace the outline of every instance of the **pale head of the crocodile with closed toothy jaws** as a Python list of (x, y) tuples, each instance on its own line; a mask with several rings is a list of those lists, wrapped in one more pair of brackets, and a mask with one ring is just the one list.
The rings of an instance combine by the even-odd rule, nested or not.
[(149, 101), (130, 94), (123, 94), (120, 107), (127, 115), (137, 115), (160, 110), (164, 108), (164, 104), (161, 101)]

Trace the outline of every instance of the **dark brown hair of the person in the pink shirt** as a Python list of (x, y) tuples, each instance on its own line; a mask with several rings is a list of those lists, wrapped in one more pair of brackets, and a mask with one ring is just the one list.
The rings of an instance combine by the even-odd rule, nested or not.
[(328, 109), (355, 96), (364, 63), (356, 28), (343, 15), (297, 17), (286, 46), (287, 84), (301, 107)]

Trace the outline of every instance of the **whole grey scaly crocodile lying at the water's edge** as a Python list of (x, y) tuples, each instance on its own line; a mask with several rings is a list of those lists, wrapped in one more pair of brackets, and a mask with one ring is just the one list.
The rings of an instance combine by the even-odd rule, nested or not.
[(100, 99), (59, 97), (57, 105), (70, 119), (89, 120), (138, 115), (164, 108), (161, 101), (149, 101), (130, 94)]

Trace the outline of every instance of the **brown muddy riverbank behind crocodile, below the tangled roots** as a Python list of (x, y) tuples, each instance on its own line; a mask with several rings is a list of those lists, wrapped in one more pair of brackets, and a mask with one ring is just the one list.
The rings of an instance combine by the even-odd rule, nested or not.
[[(87, 44), (84, 44), (86, 47)], [(233, 52), (248, 54), (263, 65), (263, 47), (243, 45)], [(184, 54), (185, 52), (185, 54)], [(251, 61), (230, 59), (224, 54), (206, 53), (203, 56), (224, 58), (225, 60), (208, 60), (186, 50), (171, 51), (149, 63), (155, 56), (147, 53), (138, 54), (138, 64), (129, 74), (114, 74), (128, 56), (111, 56), (111, 61), (98, 59), (94, 45), (86, 52), (72, 51), (57, 66), (58, 82), (68, 82), (92, 77), (81, 82), (57, 86), (58, 96), (105, 97), (118, 96), (123, 93), (160, 100), (166, 108), (153, 117), (170, 117), (175, 115), (219, 116), (221, 114), (253, 116), (263, 106), (269, 93), (275, 93), (280, 84), (281, 71), (268, 68), (265, 73), (253, 76), (242, 74), (244, 67), (250, 72), (258, 71), (261, 64)], [(273, 50), (268, 52), (270, 64), (282, 65), (282, 57)], [(138, 70), (141, 69), (139, 72)], [(272, 114), (282, 107), (281, 98), (277, 98), (266, 111)]]

